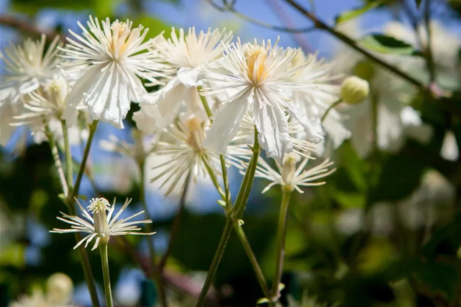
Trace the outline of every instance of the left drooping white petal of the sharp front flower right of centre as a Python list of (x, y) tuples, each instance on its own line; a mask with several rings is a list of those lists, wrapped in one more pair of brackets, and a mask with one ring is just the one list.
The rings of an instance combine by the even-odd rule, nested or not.
[(212, 126), (206, 131), (203, 147), (220, 154), (225, 154), (227, 145), (237, 134), (240, 122), (248, 106), (248, 93), (244, 92), (230, 102), (219, 106)]

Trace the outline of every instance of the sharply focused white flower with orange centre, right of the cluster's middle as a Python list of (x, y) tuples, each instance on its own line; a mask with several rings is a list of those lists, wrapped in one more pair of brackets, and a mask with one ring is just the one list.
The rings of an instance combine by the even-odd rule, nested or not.
[(323, 138), (298, 112), (282, 91), (309, 91), (312, 82), (295, 82), (290, 79), (302, 67), (292, 67), (291, 62), (298, 50), (279, 48), (277, 44), (248, 44), (246, 57), (237, 38), (237, 43), (223, 43), (224, 55), (205, 68), (205, 80), (210, 87), (203, 95), (214, 95), (229, 90), (238, 90), (224, 101), (216, 112), (214, 122), (206, 133), (204, 147), (226, 153), (226, 147), (237, 134), (238, 127), (248, 107), (253, 111), (253, 122), (259, 132), (258, 140), (269, 157), (280, 163), (292, 149), (288, 135), (285, 112), (299, 121), (306, 132), (307, 140), (319, 143)]

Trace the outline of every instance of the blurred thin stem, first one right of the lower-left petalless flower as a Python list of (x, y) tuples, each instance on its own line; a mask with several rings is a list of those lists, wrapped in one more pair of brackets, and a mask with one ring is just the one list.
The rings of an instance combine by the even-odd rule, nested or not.
[[(150, 220), (149, 211), (148, 211), (147, 202), (146, 202), (146, 192), (145, 192), (146, 170), (145, 170), (145, 159), (144, 158), (138, 159), (138, 166), (139, 166), (139, 171), (141, 174), (141, 181), (139, 185), (139, 196), (141, 198), (141, 203), (142, 203), (143, 210), (144, 210), (144, 216), (146, 220)], [(151, 224), (146, 224), (146, 230), (147, 232), (152, 232)], [(147, 238), (147, 245), (149, 248), (150, 268), (153, 273), (153, 279), (157, 286), (160, 304), (162, 305), (162, 307), (167, 307), (168, 301), (166, 299), (165, 287), (163, 285), (161, 273), (159, 269), (157, 268), (157, 264), (155, 262), (155, 258), (156, 258), (155, 246), (151, 238)]]

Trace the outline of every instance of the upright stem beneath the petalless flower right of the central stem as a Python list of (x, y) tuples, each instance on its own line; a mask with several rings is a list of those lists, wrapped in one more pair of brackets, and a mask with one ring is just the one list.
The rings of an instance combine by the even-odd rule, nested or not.
[(269, 306), (275, 307), (280, 297), (280, 281), (282, 279), (283, 260), (285, 258), (285, 234), (286, 234), (286, 217), (288, 213), (288, 204), (290, 202), (291, 191), (282, 189), (282, 201), (280, 204), (280, 215), (277, 226), (277, 256), (275, 260), (275, 277), (271, 288), (271, 303)]

